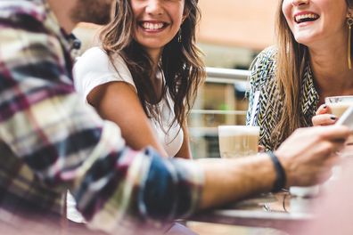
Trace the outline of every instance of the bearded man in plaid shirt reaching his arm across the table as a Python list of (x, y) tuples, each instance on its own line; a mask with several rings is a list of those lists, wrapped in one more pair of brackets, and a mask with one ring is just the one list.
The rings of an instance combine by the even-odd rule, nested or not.
[(81, 105), (71, 77), (68, 34), (79, 21), (106, 23), (113, 3), (0, 1), (0, 222), (7, 229), (23, 225), (17, 217), (58, 222), (68, 189), (91, 228), (120, 232), (328, 177), (332, 153), (349, 135), (343, 126), (299, 130), (275, 154), (238, 160), (166, 160), (128, 149), (118, 126)]

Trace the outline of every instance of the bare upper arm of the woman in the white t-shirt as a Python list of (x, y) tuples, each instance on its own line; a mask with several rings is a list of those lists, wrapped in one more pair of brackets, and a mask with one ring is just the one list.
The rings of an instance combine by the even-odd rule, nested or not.
[(150, 145), (162, 156), (168, 156), (153, 133), (150, 121), (131, 85), (125, 82), (98, 85), (88, 93), (87, 101), (102, 118), (120, 127), (127, 146), (141, 150)]

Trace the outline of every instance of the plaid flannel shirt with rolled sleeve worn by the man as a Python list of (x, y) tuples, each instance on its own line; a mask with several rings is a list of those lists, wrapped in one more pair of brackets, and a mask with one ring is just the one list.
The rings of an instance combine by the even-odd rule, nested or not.
[(59, 218), (67, 189), (104, 231), (193, 213), (203, 173), (129, 150), (119, 127), (82, 103), (71, 69), (70, 40), (45, 0), (0, 1), (0, 220)]

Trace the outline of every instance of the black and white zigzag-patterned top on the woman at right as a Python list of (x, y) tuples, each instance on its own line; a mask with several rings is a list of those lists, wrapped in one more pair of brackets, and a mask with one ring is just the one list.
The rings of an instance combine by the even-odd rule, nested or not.
[[(259, 144), (265, 146), (266, 150), (274, 150), (280, 142), (272, 140), (271, 134), (279, 122), (283, 111), (283, 97), (278, 95), (275, 84), (275, 55), (277, 50), (274, 46), (268, 47), (255, 58), (250, 70), (250, 91), (247, 93), (249, 98), (249, 109), (246, 123), (250, 125), (251, 113), (254, 111), (253, 125), (260, 126)], [(308, 66), (301, 79), (300, 94), (300, 123), (302, 126), (312, 126), (311, 118), (315, 115), (319, 95), (316, 92), (314, 78)], [(258, 94), (256, 94), (258, 93)], [(254, 97), (258, 95), (259, 102), (253, 107)], [(256, 104), (255, 104), (256, 105)]]

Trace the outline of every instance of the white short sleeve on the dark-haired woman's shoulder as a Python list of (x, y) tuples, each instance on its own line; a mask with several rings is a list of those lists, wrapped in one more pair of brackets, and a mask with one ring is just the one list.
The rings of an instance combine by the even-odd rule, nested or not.
[(110, 82), (126, 82), (134, 87), (137, 93), (133, 77), (127, 68), (126, 62), (117, 55), (114, 57), (114, 66), (99, 47), (93, 47), (86, 51), (75, 63), (74, 69), (75, 88), (83, 95), (85, 101), (87, 95), (98, 85)]

